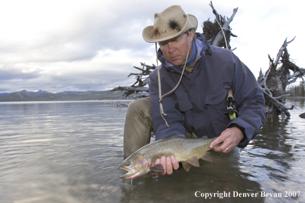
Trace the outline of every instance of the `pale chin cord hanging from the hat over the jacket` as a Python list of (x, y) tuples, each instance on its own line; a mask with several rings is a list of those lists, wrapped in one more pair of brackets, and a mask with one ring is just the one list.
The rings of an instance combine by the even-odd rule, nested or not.
[(163, 95), (161, 94), (161, 79), (160, 79), (160, 70), (159, 70), (159, 64), (158, 64), (158, 50), (157, 50), (157, 43), (156, 43), (160, 114), (161, 114), (163, 120), (165, 121), (165, 125), (166, 125), (167, 127), (169, 127), (169, 126), (168, 126), (168, 124), (167, 124), (166, 119), (165, 119), (164, 116), (163, 116), (163, 115), (167, 115), (167, 114), (164, 113), (164, 111), (163, 111), (162, 98), (165, 97), (165, 96), (167, 96), (168, 94), (174, 92), (174, 91), (177, 89), (177, 87), (179, 86), (179, 84), (180, 84), (180, 82), (181, 82), (181, 80), (182, 80), (183, 73), (184, 73), (184, 70), (185, 70), (185, 67), (186, 67), (186, 62), (187, 62), (187, 60), (188, 60), (189, 51), (190, 51), (190, 37), (189, 37), (189, 36), (190, 36), (190, 33), (189, 33), (189, 31), (188, 31), (188, 50), (187, 50), (187, 55), (186, 55), (184, 67), (183, 67), (183, 70), (182, 70), (182, 73), (181, 73), (179, 82), (178, 82), (177, 85), (174, 87), (174, 89), (170, 90), (169, 92), (167, 92), (166, 94), (163, 94)]

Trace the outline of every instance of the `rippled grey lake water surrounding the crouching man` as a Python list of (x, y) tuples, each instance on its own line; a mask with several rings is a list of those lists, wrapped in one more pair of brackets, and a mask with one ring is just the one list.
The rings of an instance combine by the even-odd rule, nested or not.
[(131, 185), (118, 170), (125, 107), (0, 103), (0, 202), (305, 202), (305, 102), (291, 104), (239, 156), (213, 152), (214, 163)]

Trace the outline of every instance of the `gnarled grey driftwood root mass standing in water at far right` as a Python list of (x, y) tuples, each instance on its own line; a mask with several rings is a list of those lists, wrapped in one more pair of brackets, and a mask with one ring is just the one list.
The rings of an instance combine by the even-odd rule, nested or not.
[[(283, 112), (289, 117), (290, 113), (288, 110), (292, 110), (294, 106), (288, 107), (284, 105), (284, 97), (289, 96), (285, 94), (285, 89), (288, 85), (296, 82), (298, 78), (304, 81), (305, 69), (299, 68), (289, 59), (287, 46), (294, 39), (295, 37), (289, 42), (287, 42), (287, 38), (284, 40), (275, 60), (268, 55), (270, 60), (269, 69), (264, 75), (260, 70), (257, 78), (257, 82), (264, 93), (267, 114), (279, 114)], [(291, 71), (293, 74), (291, 74)]]

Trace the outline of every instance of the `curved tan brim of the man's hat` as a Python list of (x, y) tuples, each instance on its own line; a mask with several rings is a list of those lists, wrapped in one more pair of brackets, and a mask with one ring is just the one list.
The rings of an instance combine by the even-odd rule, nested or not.
[(166, 35), (164, 37), (154, 37), (153, 36), (153, 30), (154, 26), (147, 26), (143, 29), (142, 36), (146, 42), (149, 43), (156, 43), (156, 42), (163, 42), (168, 39), (175, 38), (176, 36), (179, 36), (181, 33), (186, 32), (190, 28), (194, 28), (194, 31), (197, 30), (198, 27), (198, 21), (197, 18), (194, 15), (187, 14), (189, 16), (190, 24), (192, 24), (192, 27), (189, 27), (189, 24), (185, 23), (184, 27), (179, 32), (174, 32), (173, 34)]

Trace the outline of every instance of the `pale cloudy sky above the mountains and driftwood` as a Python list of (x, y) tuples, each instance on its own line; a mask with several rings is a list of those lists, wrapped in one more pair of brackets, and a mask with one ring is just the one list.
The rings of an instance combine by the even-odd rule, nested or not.
[[(198, 32), (214, 14), (207, 0), (1, 1), (0, 93), (45, 90), (109, 90), (131, 85), (140, 62), (156, 64), (154, 44), (142, 30), (153, 25), (154, 14), (181, 5), (198, 19)], [(237, 38), (234, 53), (257, 77), (269, 67), (286, 37), (291, 58), (305, 67), (303, 3), (299, 0), (249, 2), (213, 1), (217, 12), (230, 17)]]

